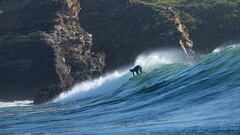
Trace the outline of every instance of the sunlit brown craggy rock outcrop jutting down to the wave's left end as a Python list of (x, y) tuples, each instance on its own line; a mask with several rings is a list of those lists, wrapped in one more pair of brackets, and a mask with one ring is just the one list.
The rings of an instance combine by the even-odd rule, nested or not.
[[(56, 12), (53, 31), (45, 33), (45, 39), (55, 51), (55, 70), (60, 84), (40, 90), (35, 103), (52, 99), (75, 81), (87, 80), (100, 74), (104, 68), (104, 54), (91, 51), (92, 35), (79, 24), (80, 3), (77, 0), (66, 0), (62, 5)], [(51, 90), (53, 92), (49, 93)]]

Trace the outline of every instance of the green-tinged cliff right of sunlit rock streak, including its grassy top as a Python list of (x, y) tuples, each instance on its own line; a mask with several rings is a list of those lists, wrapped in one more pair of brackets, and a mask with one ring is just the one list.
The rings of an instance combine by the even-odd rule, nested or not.
[(186, 27), (194, 50), (209, 52), (225, 42), (239, 42), (240, 0), (135, 0), (172, 7)]

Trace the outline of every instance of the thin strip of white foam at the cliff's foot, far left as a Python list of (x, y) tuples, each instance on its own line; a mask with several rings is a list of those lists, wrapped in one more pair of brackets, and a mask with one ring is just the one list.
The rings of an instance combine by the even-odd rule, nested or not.
[(0, 102), (0, 108), (5, 107), (16, 107), (16, 106), (30, 106), (33, 101), (25, 100), (25, 101), (13, 101), (13, 102)]

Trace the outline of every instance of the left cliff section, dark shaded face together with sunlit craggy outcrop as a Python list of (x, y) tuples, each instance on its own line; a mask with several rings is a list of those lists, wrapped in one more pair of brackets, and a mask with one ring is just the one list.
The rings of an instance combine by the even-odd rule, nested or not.
[(0, 1), (0, 99), (47, 101), (102, 71), (76, 0)]

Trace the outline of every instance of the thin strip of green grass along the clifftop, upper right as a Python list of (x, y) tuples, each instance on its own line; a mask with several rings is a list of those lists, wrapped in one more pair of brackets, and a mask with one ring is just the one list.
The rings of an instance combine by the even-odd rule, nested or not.
[(195, 5), (213, 5), (213, 4), (236, 4), (240, 0), (139, 0), (146, 3), (163, 6), (195, 6)]

